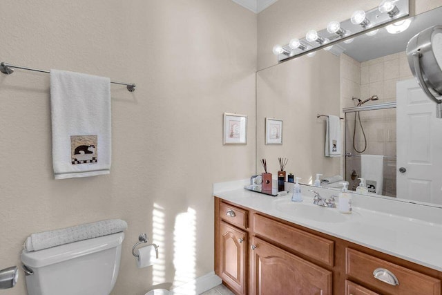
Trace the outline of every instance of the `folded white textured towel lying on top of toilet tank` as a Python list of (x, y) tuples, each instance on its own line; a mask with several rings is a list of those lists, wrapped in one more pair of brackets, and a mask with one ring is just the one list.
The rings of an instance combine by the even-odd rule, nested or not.
[(87, 240), (89, 238), (116, 234), (126, 229), (127, 223), (121, 219), (91, 222), (86, 225), (77, 225), (75, 227), (67, 227), (66, 229), (56, 229), (54, 231), (32, 234), (26, 238), (24, 248), (27, 251), (38, 251), (70, 242), (77, 242), (78, 240)]

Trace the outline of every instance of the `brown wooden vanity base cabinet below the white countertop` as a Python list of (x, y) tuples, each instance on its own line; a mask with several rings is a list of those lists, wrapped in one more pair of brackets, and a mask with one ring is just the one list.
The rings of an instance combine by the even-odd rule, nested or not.
[[(378, 268), (399, 284), (374, 278)], [(442, 295), (442, 272), (220, 198), (215, 273), (241, 295)]]

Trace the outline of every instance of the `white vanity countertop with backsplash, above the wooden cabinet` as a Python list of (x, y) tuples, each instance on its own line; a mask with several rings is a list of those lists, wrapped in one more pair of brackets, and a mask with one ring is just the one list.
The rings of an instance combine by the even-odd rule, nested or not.
[[(320, 222), (281, 209), (281, 205), (290, 202), (291, 193), (288, 196), (271, 197), (248, 191), (243, 189), (243, 186), (244, 181), (214, 184), (213, 194), (223, 200), (296, 225), (442, 271), (442, 209), (440, 208), (353, 195), (352, 214), (336, 212), (343, 216), (343, 218), (339, 216), (339, 219), (342, 219), (339, 222)], [(316, 207), (313, 204), (313, 194), (308, 192), (308, 189), (315, 189), (321, 196), (327, 198), (332, 193), (337, 194), (336, 191), (330, 192), (327, 189), (303, 185), (301, 187), (304, 206)], [(291, 204), (292, 207), (296, 206), (296, 203), (291, 202)]]

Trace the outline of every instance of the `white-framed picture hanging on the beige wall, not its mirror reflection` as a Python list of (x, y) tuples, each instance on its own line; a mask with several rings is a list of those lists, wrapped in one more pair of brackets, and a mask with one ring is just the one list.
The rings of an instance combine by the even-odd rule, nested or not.
[(224, 113), (222, 144), (247, 144), (247, 115)]

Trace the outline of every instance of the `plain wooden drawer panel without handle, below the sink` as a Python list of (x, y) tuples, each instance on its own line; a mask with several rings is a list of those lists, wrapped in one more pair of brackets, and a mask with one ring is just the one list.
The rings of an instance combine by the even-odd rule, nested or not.
[(334, 242), (270, 218), (253, 215), (253, 231), (289, 249), (333, 266)]

